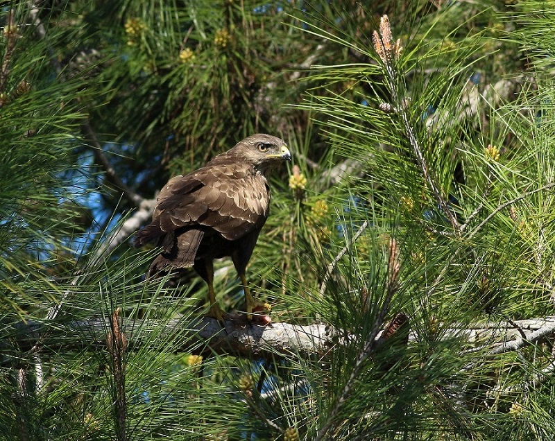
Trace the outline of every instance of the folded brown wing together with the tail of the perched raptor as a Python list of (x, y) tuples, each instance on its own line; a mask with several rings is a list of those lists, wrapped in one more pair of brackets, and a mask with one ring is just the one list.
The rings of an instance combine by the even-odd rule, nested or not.
[(137, 246), (148, 241), (162, 245), (165, 257), (161, 254), (153, 261), (153, 271), (194, 263), (202, 235), (194, 243), (192, 231), (212, 228), (224, 239), (237, 240), (260, 230), (266, 222), (269, 205), (266, 178), (250, 164), (222, 157), (189, 175), (171, 178), (160, 191), (152, 223), (135, 236)]

